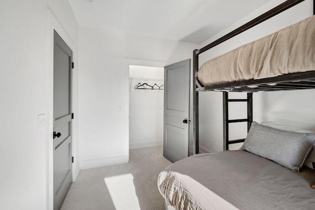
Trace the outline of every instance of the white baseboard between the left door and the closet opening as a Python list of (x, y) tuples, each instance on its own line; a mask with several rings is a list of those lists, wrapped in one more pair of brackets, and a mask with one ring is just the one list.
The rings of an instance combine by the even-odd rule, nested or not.
[(128, 156), (120, 156), (120, 157), (110, 157), (110, 158), (102, 158), (95, 160), (85, 160), (79, 161), (80, 170), (82, 169), (90, 169), (90, 168), (98, 168), (104, 166), (118, 165), (129, 162)]

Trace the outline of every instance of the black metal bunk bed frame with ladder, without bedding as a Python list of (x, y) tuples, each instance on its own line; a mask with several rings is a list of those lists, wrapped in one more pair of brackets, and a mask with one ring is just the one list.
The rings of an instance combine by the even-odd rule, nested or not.
[[(279, 90), (304, 90), (315, 89), (315, 70), (303, 73), (288, 74), (278, 77), (248, 80), (241, 82), (233, 82), (221, 85), (204, 87), (198, 80), (198, 57), (199, 54), (221, 44), (222, 42), (251, 29), (252, 27), (268, 20), (269, 18), (293, 7), (304, 0), (286, 0), (284, 3), (263, 13), (252, 21), (243, 26), (229, 32), (216, 41), (206, 45), (200, 50), (193, 51), (193, 135), (195, 139), (195, 153), (199, 153), (199, 91), (222, 91), (223, 92), (223, 150), (228, 150), (229, 144), (241, 143), (245, 139), (229, 140), (228, 124), (234, 122), (248, 122), (248, 130), (252, 124), (252, 92), (260, 91), (279, 91)], [(315, 15), (315, 0), (313, 0), (313, 14)], [(275, 85), (276, 84), (276, 85)], [(249, 88), (248, 86), (258, 86)], [(247, 99), (228, 99), (228, 91), (231, 92), (248, 92)], [(228, 102), (247, 102), (247, 119), (229, 120), (228, 118)]]

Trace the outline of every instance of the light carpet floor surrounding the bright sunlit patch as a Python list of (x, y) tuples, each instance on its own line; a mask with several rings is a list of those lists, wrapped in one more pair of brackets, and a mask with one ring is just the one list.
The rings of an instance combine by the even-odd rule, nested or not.
[(81, 170), (64, 199), (62, 210), (115, 210), (104, 179), (131, 174), (141, 210), (164, 210), (158, 192), (158, 174), (171, 162), (162, 155), (162, 146), (129, 151), (129, 163)]

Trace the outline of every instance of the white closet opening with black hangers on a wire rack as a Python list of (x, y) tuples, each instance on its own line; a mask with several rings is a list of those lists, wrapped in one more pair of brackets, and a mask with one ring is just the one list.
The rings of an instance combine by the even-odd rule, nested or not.
[(164, 68), (129, 65), (129, 149), (163, 144)]

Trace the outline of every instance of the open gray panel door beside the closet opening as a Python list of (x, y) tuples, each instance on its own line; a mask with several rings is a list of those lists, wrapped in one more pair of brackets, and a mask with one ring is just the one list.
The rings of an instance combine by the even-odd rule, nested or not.
[(163, 155), (175, 162), (189, 155), (190, 59), (164, 67)]

